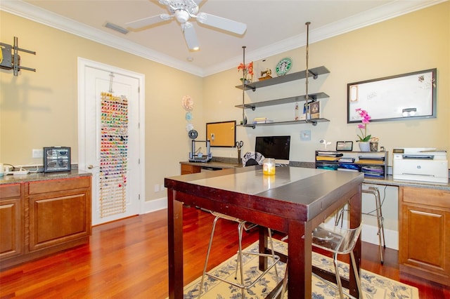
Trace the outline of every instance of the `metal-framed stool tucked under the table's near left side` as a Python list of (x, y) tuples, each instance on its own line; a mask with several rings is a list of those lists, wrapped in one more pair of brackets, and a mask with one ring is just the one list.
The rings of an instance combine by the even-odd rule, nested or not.
[[(243, 230), (250, 230), (252, 227), (256, 227), (257, 225), (251, 223), (248, 227), (246, 227), (245, 225), (246, 225), (247, 222), (245, 222), (245, 220), (241, 220), (239, 218), (234, 218), (234, 217), (231, 217), (229, 215), (224, 215), (224, 214), (217, 213), (217, 212), (214, 212), (214, 211), (211, 211), (211, 213), (212, 213), (212, 215), (216, 216), (216, 218), (214, 218), (214, 221), (212, 222), (212, 231), (211, 231), (211, 237), (210, 237), (210, 244), (208, 246), (208, 250), (207, 250), (207, 253), (206, 253), (205, 267), (203, 267), (203, 275), (202, 275), (202, 279), (200, 281), (200, 289), (198, 291), (198, 298), (200, 298), (200, 296), (202, 295), (203, 282), (205, 281), (205, 276), (212, 277), (214, 279), (219, 279), (220, 281), (224, 281), (227, 284), (231, 284), (233, 286), (236, 286), (236, 287), (240, 288), (241, 291), (242, 291), (242, 298), (245, 298), (245, 290), (249, 290), (250, 288), (252, 288), (252, 286), (255, 286), (257, 281), (262, 279), (262, 277), (267, 272), (269, 272), (269, 270), (271, 270), (272, 267), (274, 267), (274, 269), (275, 269), (275, 274), (276, 274), (277, 283), (278, 283), (278, 271), (276, 270), (276, 263), (278, 263), (278, 261), (280, 260), (280, 257), (278, 255), (275, 255), (274, 244), (272, 242), (271, 230), (267, 229), (268, 232), (269, 232), (269, 244), (270, 244), (270, 247), (271, 247), (271, 254), (253, 253), (253, 252), (249, 252), (249, 251), (243, 251), (242, 250)], [(236, 258), (236, 273), (234, 275), (234, 279), (236, 279), (236, 281), (237, 281), (237, 279), (238, 279), (238, 270), (240, 270), (240, 283), (235, 282), (235, 281), (230, 281), (230, 280), (227, 280), (227, 279), (224, 279), (224, 278), (221, 278), (221, 277), (217, 277), (214, 274), (206, 272), (208, 259), (210, 258), (212, 239), (214, 237), (214, 229), (216, 227), (217, 220), (219, 220), (219, 219), (226, 219), (226, 220), (231, 220), (231, 221), (238, 222), (239, 246), (238, 246), (238, 254), (237, 254), (237, 258)], [(266, 258), (271, 258), (272, 261), (267, 266), (266, 270), (264, 270), (264, 272), (259, 274), (258, 277), (256, 277), (252, 281), (247, 281), (248, 279), (244, 279), (243, 255), (264, 256)], [(244, 280), (246, 281), (246, 283), (244, 283)]]

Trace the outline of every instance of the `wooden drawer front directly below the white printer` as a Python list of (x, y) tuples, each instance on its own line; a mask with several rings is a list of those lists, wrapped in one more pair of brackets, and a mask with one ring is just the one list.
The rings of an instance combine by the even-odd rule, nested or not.
[(450, 192), (445, 190), (404, 187), (403, 201), (411, 204), (426, 204), (450, 208)]

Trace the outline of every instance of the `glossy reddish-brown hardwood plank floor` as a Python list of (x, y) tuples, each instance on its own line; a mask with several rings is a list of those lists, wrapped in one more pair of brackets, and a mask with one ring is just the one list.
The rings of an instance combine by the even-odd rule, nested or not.
[[(184, 209), (184, 283), (203, 271), (212, 215)], [(220, 220), (210, 267), (236, 253), (236, 224)], [(281, 239), (281, 235), (275, 237)], [(245, 234), (243, 245), (257, 240)], [(361, 267), (419, 288), (420, 298), (450, 298), (450, 288), (399, 276), (397, 251), (386, 249), (380, 265), (378, 246), (363, 243)], [(167, 210), (99, 225), (91, 243), (49, 258), (0, 272), (0, 298), (166, 298)]]

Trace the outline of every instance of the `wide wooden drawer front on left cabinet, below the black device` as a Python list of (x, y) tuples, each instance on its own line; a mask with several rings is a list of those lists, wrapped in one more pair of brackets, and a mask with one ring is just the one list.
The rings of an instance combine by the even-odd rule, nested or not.
[(90, 186), (91, 177), (68, 178), (63, 180), (44, 180), (40, 182), (30, 182), (28, 193), (39, 194), (61, 190), (89, 188)]

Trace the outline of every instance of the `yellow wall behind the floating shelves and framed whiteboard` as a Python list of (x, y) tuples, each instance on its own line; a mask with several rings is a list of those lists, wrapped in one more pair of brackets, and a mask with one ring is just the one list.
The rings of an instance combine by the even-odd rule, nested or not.
[[(445, 2), (420, 11), (387, 20), (362, 29), (335, 36), (309, 45), (309, 67), (321, 65), (330, 69), (330, 74), (309, 79), (309, 93), (325, 92), (330, 98), (322, 101), (323, 117), (329, 123), (317, 126), (297, 124), (289, 126), (264, 126), (256, 129), (238, 128), (238, 139), (245, 145), (243, 152), (255, 146), (255, 135), (291, 135), (292, 161), (314, 161), (314, 150), (322, 147), (319, 140), (326, 139), (335, 147), (338, 140), (356, 141), (356, 124), (347, 124), (347, 84), (437, 68), (437, 118), (401, 121), (378, 121), (368, 125), (368, 133), (380, 138), (383, 145), (392, 153), (394, 147), (438, 147), (450, 150), (450, 3)], [(314, 24), (310, 26), (314, 37)], [(251, 51), (248, 49), (247, 51)], [(283, 57), (293, 58), (291, 72), (306, 67), (305, 47), (267, 58), (264, 67), (274, 72), (276, 63)], [(262, 69), (262, 61), (255, 61), (255, 68)], [(242, 102), (242, 91), (236, 69), (214, 74), (205, 78), (204, 98), (205, 117), (208, 121), (220, 119), (217, 112), (225, 109), (229, 119), (241, 119), (242, 112), (231, 108)], [(256, 92), (247, 91), (245, 102), (259, 102), (304, 94), (304, 80), (278, 86), (260, 88)], [(218, 90), (215, 86), (221, 86)], [(233, 111), (234, 109), (234, 111)], [(246, 110), (249, 119), (253, 117), (276, 117), (292, 120), (295, 117), (294, 104), (281, 107), (259, 108), (256, 112)], [(212, 117), (210, 117), (212, 115)], [(300, 131), (311, 130), (312, 140), (301, 141)], [(357, 148), (356, 142), (354, 147)], [(214, 150), (219, 156), (236, 157), (236, 150)], [(390, 154), (392, 165), (392, 154)]]

